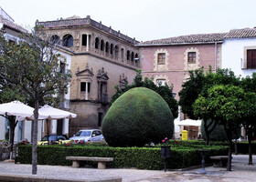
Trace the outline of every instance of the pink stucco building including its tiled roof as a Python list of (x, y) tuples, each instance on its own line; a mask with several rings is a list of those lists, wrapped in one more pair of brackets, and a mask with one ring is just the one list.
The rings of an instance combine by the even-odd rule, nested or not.
[(182, 35), (140, 43), (143, 76), (154, 76), (155, 84), (162, 82), (174, 86), (173, 92), (181, 90), (189, 78), (188, 70), (201, 66), (207, 70), (220, 67), (221, 44), (225, 34)]

